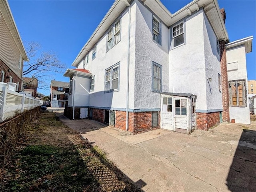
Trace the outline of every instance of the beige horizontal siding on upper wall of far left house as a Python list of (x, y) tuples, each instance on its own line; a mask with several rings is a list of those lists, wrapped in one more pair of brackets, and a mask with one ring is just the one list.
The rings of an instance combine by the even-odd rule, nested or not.
[(20, 51), (0, 12), (0, 59), (18, 76), (22, 77), (22, 65), (19, 69)]

